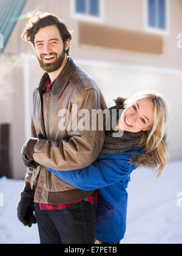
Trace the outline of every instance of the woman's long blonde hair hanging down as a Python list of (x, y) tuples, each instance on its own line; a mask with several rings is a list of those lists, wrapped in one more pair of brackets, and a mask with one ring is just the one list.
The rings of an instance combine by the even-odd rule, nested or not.
[[(142, 131), (140, 146), (144, 146), (144, 151), (147, 153), (146, 157), (141, 155), (133, 163), (140, 165), (141, 162), (146, 161), (146, 164), (149, 163), (150, 167), (157, 168), (157, 177), (159, 177), (168, 158), (165, 133), (168, 113), (167, 103), (164, 96), (156, 91), (140, 92), (126, 99), (124, 101), (124, 108), (140, 99), (149, 99), (153, 102), (153, 124), (149, 127), (149, 130)], [(152, 162), (150, 162), (149, 158)]]

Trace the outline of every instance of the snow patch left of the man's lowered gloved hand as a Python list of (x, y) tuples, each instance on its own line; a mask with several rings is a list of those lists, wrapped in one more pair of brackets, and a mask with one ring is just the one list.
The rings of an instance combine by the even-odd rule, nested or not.
[(36, 225), (25, 227), (19, 222), (16, 207), (23, 180), (0, 179), (0, 191), (4, 194), (4, 207), (0, 207), (0, 244), (38, 244)]

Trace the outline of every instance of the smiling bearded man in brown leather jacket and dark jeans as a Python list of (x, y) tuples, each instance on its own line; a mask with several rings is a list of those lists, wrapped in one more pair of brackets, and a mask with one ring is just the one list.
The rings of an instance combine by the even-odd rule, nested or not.
[[(21, 153), (29, 171), (18, 203), (18, 218), (29, 227), (38, 222), (42, 244), (94, 243), (96, 191), (72, 187), (45, 166), (69, 171), (96, 160), (103, 147), (104, 129), (79, 129), (85, 117), (78, 112), (90, 113), (91, 127), (92, 109), (104, 110), (106, 102), (93, 79), (70, 58), (72, 35), (57, 16), (36, 13), (22, 37), (32, 43), (45, 73), (33, 91), (32, 138)], [(65, 109), (70, 114), (69, 129), (60, 129), (61, 111)]]

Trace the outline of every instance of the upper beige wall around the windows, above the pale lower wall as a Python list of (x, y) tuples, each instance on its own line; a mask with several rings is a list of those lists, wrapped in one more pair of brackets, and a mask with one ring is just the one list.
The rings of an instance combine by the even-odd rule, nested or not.
[[(118, 27), (145, 32), (145, 1), (146, 0), (107, 0), (104, 1), (103, 25)], [(152, 65), (168, 68), (182, 68), (182, 51), (177, 48), (177, 35), (181, 33), (182, 23), (182, 1), (169, 0), (169, 34), (163, 37), (164, 48), (162, 55), (141, 55), (122, 51), (112, 51), (108, 49), (96, 49), (90, 47), (80, 47), (78, 44), (78, 23), (72, 16), (72, 0), (53, 0), (53, 1), (28, 1), (22, 13), (40, 7), (43, 12), (53, 12), (62, 18), (73, 30), (72, 54), (79, 59), (93, 59), (120, 63), (135, 63), (141, 65)], [(19, 40), (24, 29), (26, 20), (19, 20), (8, 41), (5, 53), (19, 54), (19, 52), (33, 52), (29, 44)], [(108, 35), (109, 37), (109, 35)], [(113, 38), (115, 40), (115, 38)]]

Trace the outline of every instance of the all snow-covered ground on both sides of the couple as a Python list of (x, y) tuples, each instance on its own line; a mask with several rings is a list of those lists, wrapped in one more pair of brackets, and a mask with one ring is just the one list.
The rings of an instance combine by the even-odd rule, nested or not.
[[(18, 221), (16, 205), (23, 180), (0, 179), (0, 244), (38, 244), (37, 225), (24, 227)], [(167, 164), (160, 179), (148, 169), (136, 169), (128, 188), (127, 229), (121, 244), (182, 243), (182, 162)], [(182, 196), (181, 196), (182, 197)]]

